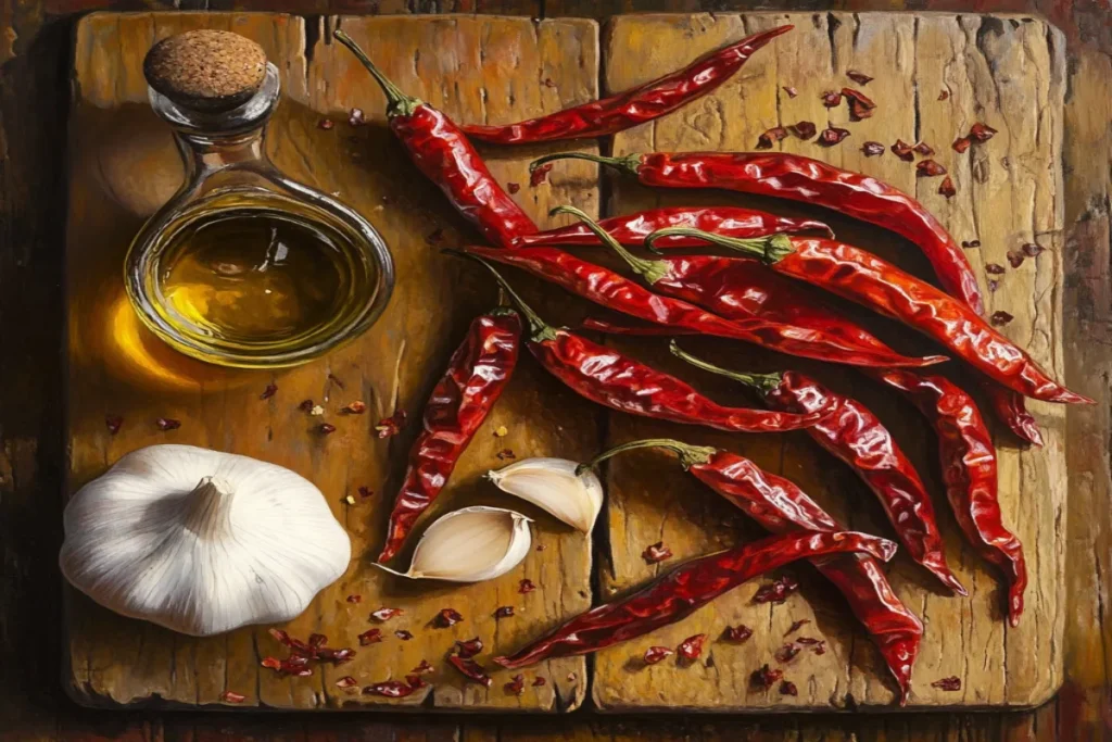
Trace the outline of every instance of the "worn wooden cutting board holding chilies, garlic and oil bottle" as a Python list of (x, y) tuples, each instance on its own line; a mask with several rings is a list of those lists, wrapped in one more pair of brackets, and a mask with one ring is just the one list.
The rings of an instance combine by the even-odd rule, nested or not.
[[(757, 55), (733, 81), (654, 125), (615, 137), (614, 152), (751, 149), (762, 131), (781, 122), (808, 119), (821, 129), (828, 118), (841, 126), (844, 108), (827, 111), (818, 95), (827, 88), (853, 86), (844, 77), (847, 69), (875, 77), (865, 91), (880, 106), (876, 116), (846, 123), (853, 135), (843, 145), (818, 149), (788, 139), (780, 146), (881, 176), (916, 192), (959, 240), (980, 239), (982, 247), (971, 249), (970, 257), (982, 287), (986, 286), (985, 264), (1007, 267), (999, 290), (986, 294), (990, 310), (1013, 314), (1015, 319), (1004, 332), (1061, 377), (1063, 245), (1058, 194), (1064, 62), (1060, 36), (1040, 20), (905, 13), (636, 16), (608, 23), (599, 51), (599, 31), (586, 20), (534, 23), (449, 16), (310, 22), (261, 13), (93, 14), (83, 19), (75, 55), (67, 248), (70, 493), (125, 453), (162, 442), (231, 451), (288, 466), (326, 494), (351, 534), (356, 557), (344, 578), (287, 629), (302, 637), (325, 633), (331, 645), (355, 646), (356, 636), (371, 626), (370, 611), (387, 605), (401, 607), (406, 614), (385, 626), (387, 642), (360, 650), (355, 662), (325, 667), (307, 679), (280, 680), (258, 665), (261, 656), (279, 652), (266, 627), (189, 639), (110, 614), (69, 590), (66, 686), (71, 695), (90, 705), (193, 708), (217, 706), (221, 693), (230, 690), (247, 699), (226, 708), (568, 711), (582, 704), (589, 685), (594, 703), (605, 711), (887, 708), (893, 693), (878, 654), (846, 615), (840, 596), (804, 567), (792, 571), (803, 588), (784, 605), (753, 605), (757, 583), (746, 585), (676, 626), (599, 653), (592, 663), (570, 659), (530, 669), (527, 691), (520, 698), (503, 691), (512, 673), (495, 673), (487, 691), (465, 684), (441, 662), (456, 639), (481, 636), (488, 651), (480, 659), (512, 651), (593, 601), (608, 600), (671, 564), (757, 535), (736, 511), (693, 485), (663, 454), (631, 456), (608, 467), (608, 507), (595, 544), (550, 517), (527, 511), (537, 515), (535, 538), (545, 550), (534, 552), (518, 570), (495, 583), (403, 585), (385, 578), (370, 564), (414, 434), (407, 427), (395, 438), (379, 441), (371, 428), (396, 404), (410, 419), (419, 415), (447, 356), (470, 318), (494, 300), (494, 291), (479, 274), (439, 255), (440, 247), (473, 239), (473, 233), (407, 162), (384, 126), (381, 96), (349, 53), (326, 41), (330, 30), (340, 23), (404, 89), (450, 116), (505, 122), (595, 98), (599, 79), (607, 89), (622, 90), (756, 29), (783, 22), (795, 23), (796, 30)], [(180, 179), (168, 130), (147, 105), (141, 60), (155, 40), (200, 27), (231, 29), (264, 44), (282, 72), (285, 90), (268, 139), (275, 161), (292, 177), (335, 192), (359, 209), (384, 234), (397, 261), (398, 286), (383, 319), (351, 346), (297, 369), (274, 375), (227, 372), (185, 359), (138, 326), (122, 294), (119, 274), (128, 241)], [(781, 86), (796, 88), (798, 96), (787, 97)], [(950, 92), (945, 101), (936, 100), (942, 89)], [(353, 106), (366, 111), (370, 126), (348, 126), (346, 111)], [(322, 117), (335, 121), (331, 130), (318, 128)], [(994, 126), (1000, 133), (972, 154), (956, 156), (949, 145), (974, 120)], [(937, 150), (935, 159), (951, 171), (957, 186), (954, 199), (946, 201), (934, 192), (936, 179), (916, 181), (913, 166), (891, 154), (864, 159), (858, 152), (866, 139), (891, 144), (896, 137), (921, 138)], [(598, 174), (588, 164), (558, 164), (549, 182), (529, 186), (527, 162), (557, 148), (573, 149), (486, 152), (500, 181), (520, 185), (515, 198), (543, 226), (549, 224), (548, 209), (558, 204), (570, 202), (592, 214), (599, 210)], [(580, 149), (597, 151), (593, 142)], [(607, 214), (655, 202), (759, 204), (797, 212), (791, 205), (724, 194), (651, 194), (625, 178), (614, 179), (609, 194)], [(847, 241), (930, 276), (909, 244), (825, 212), (808, 214), (828, 218)], [(1004, 254), (1032, 240), (1050, 249), (1017, 269), (1007, 266)], [(568, 301), (566, 295), (537, 290), (524, 279), (519, 283), (554, 321), (582, 316), (580, 303)], [(901, 349), (925, 348), (898, 327), (872, 319), (870, 326)], [(1050, 698), (1062, 675), (1064, 542), (1060, 524), (1065, 471), (1061, 407), (1032, 404), (1043, 424), (1044, 449), (1023, 451), (1006, 433), (997, 435), (1004, 517), (1023, 540), (1032, 573), (1027, 612), (1019, 629), (1010, 629), (1000, 616), (995, 575), (963, 546), (946, 514), (933, 441), (914, 410), (840, 369), (775, 358), (748, 346), (686, 344), (736, 367), (806, 368), (833, 386), (858, 394), (893, 427), (929, 479), (942, 515), (947, 556), (971, 596), (941, 594), (903, 556), (891, 567), (894, 587), (926, 624), (913, 708), (1032, 705)], [(662, 343), (620, 345), (684, 374), (717, 398), (746, 402), (728, 384), (674, 363)], [(277, 394), (260, 399), (271, 383), (278, 386)], [(298, 412), (297, 405), (306, 398), (326, 407), (324, 419), (337, 426), (335, 434), (312, 433), (321, 418)], [(339, 408), (356, 398), (367, 403), (368, 414), (340, 416)], [(115, 436), (106, 429), (106, 415), (125, 418)], [(182, 426), (162, 433), (153, 422), (159, 416), (178, 418)], [(494, 436), (500, 425), (509, 431), (505, 438)], [(478, 503), (520, 507), (479, 479), (486, 469), (503, 465), (497, 454), (504, 448), (519, 458), (582, 459), (607, 443), (649, 435), (728, 447), (788, 475), (854, 527), (891, 535), (871, 495), (845, 467), (803, 436), (708, 435), (607, 416), (559, 387), (527, 357), (436, 511)], [(345, 496), (359, 486), (376, 494), (369, 499), (357, 496), (355, 506), (345, 504)], [(647, 566), (642, 551), (662, 538), (675, 557)], [(530, 578), (537, 592), (518, 594), (523, 577)], [(593, 577), (600, 591), (594, 596)], [(361, 602), (349, 603), (349, 595), (360, 595)], [(495, 622), (492, 614), (500, 605), (514, 605), (517, 615)], [(443, 607), (458, 610), (465, 622), (449, 630), (428, 626)], [(825, 639), (830, 649), (821, 657), (802, 654), (786, 667), (800, 695), (749, 690), (748, 674), (771, 661), (785, 641), (784, 631), (798, 619), (812, 621), (801, 633)], [(651, 644), (674, 645), (701, 632), (716, 640), (727, 623), (738, 622), (756, 629), (753, 639), (742, 646), (712, 641), (694, 666), (665, 662), (642, 670), (631, 663)], [(414, 639), (395, 640), (389, 635), (394, 629), (407, 629)], [(348, 695), (335, 686), (338, 677), (348, 674), (360, 685), (400, 677), (423, 659), (437, 666), (430, 677), (433, 690), (400, 702)], [(529, 686), (537, 675), (548, 684)], [(946, 675), (962, 677), (963, 690), (945, 693), (931, 687), (932, 681)]]

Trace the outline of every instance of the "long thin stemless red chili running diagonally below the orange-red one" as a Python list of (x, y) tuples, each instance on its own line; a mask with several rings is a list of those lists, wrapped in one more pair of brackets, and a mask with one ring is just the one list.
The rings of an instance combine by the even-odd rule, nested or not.
[[(604, 241), (610, 239), (609, 235), (578, 209), (560, 206), (553, 209), (553, 214), (574, 214)], [(464, 249), (470, 255), (524, 268), (538, 278), (557, 284), (604, 307), (658, 325), (745, 340), (781, 353), (832, 363), (861, 366), (922, 365), (922, 362), (916, 359), (901, 360), (901, 357), (894, 354), (883, 354), (883, 357), (874, 354), (872, 357), (865, 357), (860, 352), (848, 353), (841, 342), (827, 338), (816, 330), (802, 330), (783, 323), (762, 318), (724, 319), (687, 301), (654, 294), (609, 268), (588, 263), (558, 248), (522, 247), (499, 250), (466, 247)]]

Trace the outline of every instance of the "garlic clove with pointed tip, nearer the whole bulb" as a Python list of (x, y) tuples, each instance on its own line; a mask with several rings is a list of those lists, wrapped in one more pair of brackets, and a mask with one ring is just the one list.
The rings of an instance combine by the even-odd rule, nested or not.
[(499, 577), (529, 553), (532, 521), (502, 507), (476, 505), (440, 517), (417, 542), (408, 572), (395, 572), (411, 580), (483, 582)]

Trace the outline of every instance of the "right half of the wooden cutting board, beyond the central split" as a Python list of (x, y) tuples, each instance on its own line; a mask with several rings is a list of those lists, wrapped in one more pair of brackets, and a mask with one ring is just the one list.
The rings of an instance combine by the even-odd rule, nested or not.
[[(638, 16), (613, 20), (604, 41), (604, 85), (622, 90), (686, 63), (706, 50), (756, 30), (794, 23), (796, 30), (758, 53), (731, 82), (706, 98), (652, 125), (615, 137), (614, 154), (636, 151), (749, 150), (764, 130), (801, 119), (824, 128), (848, 128), (841, 146), (821, 148), (790, 137), (784, 151), (816, 157), (840, 167), (877, 176), (914, 194), (959, 240), (980, 239), (969, 251), (982, 287), (983, 266), (1009, 266), (1007, 250), (1027, 241), (1048, 248), (1020, 268), (1009, 267), (996, 291), (985, 291), (989, 311), (1006, 309), (1015, 319), (1004, 332), (1046, 368), (1063, 376), (1061, 198), (1062, 39), (1045, 22), (1026, 17), (969, 17), (881, 13), (747, 13), (715, 16)], [(865, 92), (877, 101), (873, 118), (850, 122), (846, 107), (823, 108), (820, 95), (843, 86), (856, 87), (846, 70), (876, 79)], [(781, 86), (793, 86), (796, 98)], [(945, 101), (939, 91), (947, 90)], [(950, 144), (976, 120), (1000, 129), (991, 142), (959, 156)], [(890, 145), (896, 138), (926, 141), (957, 187), (951, 200), (940, 196), (937, 178), (916, 178), (912, 165), (893, 157), (866, 158), (862, 142)], [(627, 212), (657, 204), (757, 204), (774, 210), (772, 200), (735, 198), (724, 192), (649, 192), (617, 177), (609, 212)], [(787, 209), (797, 212), (797, 209)], [(830, 212), (841, 238), (888, 257), (922, 276), (929, 266), (914, 247), (880, 230), (864, 229)], [(871, 319), (871, 318), (870, 318)], [(871, 321), (877, 333), (916, 354), (929, 346), (898, 328)], [(632, 343), (620, 343), (633, 347)], [(722, 342), (685, 342), (704, 356), (735, 368), (772, 370), (801, 368), (856, 396), (876, 412), (912, 456), (935, 495), (935, 509), (946, 541), (946, 554), (970, 590), (969, 598), (951, 597), (931, 583), (906, 557), (890, 570), (901, 598), (924, 621), (926, 632), (913, 679), (912, 708), (1030, 706), (1052, 696), (1062, 682), (1064, 552), (1065, 409), (1032, 404), (1046, 436), (1043, 449), (1024, 449), (1004, 431), (995, 441), (1000, 463), (1000, 495), (1004, 522), (1025, 546), (1032, 584), (1027, 610), (1017, 629), (1001, 617), (997, 576), (963, 543), (949, 515), (940, 487), (939, 465), (930, 428), (895, 395), (862, 377), (832, 367), (820, 368), (796, 359), (774, 358), (747, 346)], [(657, 358), (677, 372), (673, 359)], [(744, 396), (728, 382), (701, 377), (706, 389), (738, 404)], [(966, 386), (969, 386), (966, 384)], [(751, 402), (748, 404), (752, 404)], [(612, 442), (674, 435), (675, 428), (615, 418)], [(683, 439), (728, 448), (762, 467), (784, 474), (851, 526), (891, 535), (891, 526), (874, 498), (850, 471), (817, 449), (806, 436), (733, 436), (684, 432)], [(739, 530), (737, 514), (713, 493), (686, 476), (664, 454), (616, 459), (609, 468), (609, 561), (603, 588), (616, 594), (639, 584), (667, 564), (648, 566), (642, 550), (664, 540), (676, 560), (707, 553), (752, 530)], [(709, 502), (708, 502), (709, 501)], [(806, 571), (796, 570), (804, 574)], [(811, 575), (808, 575), (811, 576)], [(758, 711), (790, 709), (876, 708), (892, 703), (887, 672), (868, 639), (844, 611), (840, 596), (820, 581), (783, 606), (751, 603), (758, 584), (746, 585), (691, 619), (627, 645), (598, 654), (593, 698), (608, 711), (692, 709)], [(800, 633), (827, 640), (831, 651), (804, 652), (785, 667), (800, 689), (796, 698), (753, 690), (749, 673), (785, 643), (796, 620), (813, 623)], [(725, 626), (745, 623), (756, 629), (741, 646), (715, 642), (706, 662), (682, 667), (665, 662), (637, 667), (632, 657), (651, 644), (674, 645), (685, 636), (721, 636)], [(975, 649), (974, 649), (975, 647)], [(775, 664), (775, 663), (774, 663)], [(962, 691), (931, 686), (943, 676), (962, 679)]]

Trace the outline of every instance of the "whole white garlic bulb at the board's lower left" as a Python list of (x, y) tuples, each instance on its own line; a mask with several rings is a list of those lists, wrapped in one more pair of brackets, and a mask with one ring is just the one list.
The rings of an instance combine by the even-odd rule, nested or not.
[(75, 587), (193, 636), (288, 621), (351, 558), (308, 479), (195, 446), (123, 456), (78, 491), (64, 526), (59, 563)]

